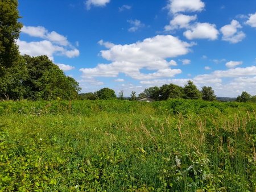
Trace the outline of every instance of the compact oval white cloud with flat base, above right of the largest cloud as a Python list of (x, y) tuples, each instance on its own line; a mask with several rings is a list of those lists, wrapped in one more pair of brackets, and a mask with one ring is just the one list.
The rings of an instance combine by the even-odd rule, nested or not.
[(196, 23), (194, 26), (183, 33), (187, 39), (209, 39), (216, 40), (218, 38), (218, 30), (215, 24)]

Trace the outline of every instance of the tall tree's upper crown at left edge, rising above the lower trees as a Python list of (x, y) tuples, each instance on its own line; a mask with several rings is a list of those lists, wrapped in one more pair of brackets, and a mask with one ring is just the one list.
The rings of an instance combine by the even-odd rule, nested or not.
[(7, 68), (17, 64), (19, 51), (15, 40), (22, 24), (18, 22), (17, 0), (1, 0), (0, 12), (0, 77), (3, 77)]

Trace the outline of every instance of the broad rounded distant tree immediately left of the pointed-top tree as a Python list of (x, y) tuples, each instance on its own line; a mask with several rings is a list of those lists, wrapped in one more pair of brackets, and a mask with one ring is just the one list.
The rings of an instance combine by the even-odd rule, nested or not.
[(160, 100), (167, 100), (168, 98), (182, 98), (184, 90), (182, 87), (174, 84), (164, 84), (159, 90)]

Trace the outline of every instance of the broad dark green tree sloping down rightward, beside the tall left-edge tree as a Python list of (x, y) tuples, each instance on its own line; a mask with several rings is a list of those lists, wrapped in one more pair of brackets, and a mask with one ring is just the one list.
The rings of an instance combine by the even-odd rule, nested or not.
[(47, 56), (24, 56), (28, 70), (28, 78), (23, 82), (26, 87), (25, 98), (38, 99), (76, 99), (81, 90), (79, 84), (65, 76), (63, 70)]

